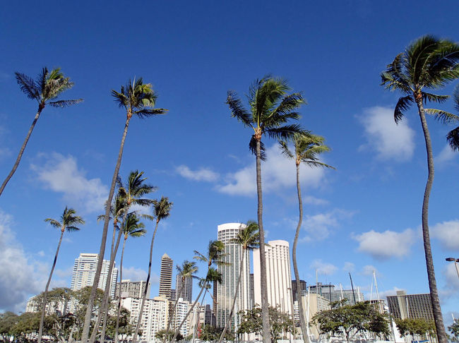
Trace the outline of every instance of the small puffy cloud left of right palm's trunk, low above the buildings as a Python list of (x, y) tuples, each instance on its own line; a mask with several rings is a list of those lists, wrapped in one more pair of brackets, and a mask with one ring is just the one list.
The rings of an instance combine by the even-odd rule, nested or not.
[(415, 233), (412, 229), (406, 229), (403, 232), (371, 230), (354, 235), (353, 238), (359, 242), (358, 251), (368, 253), (378, 260), (387, 260), (408, 255), (415, 240)]

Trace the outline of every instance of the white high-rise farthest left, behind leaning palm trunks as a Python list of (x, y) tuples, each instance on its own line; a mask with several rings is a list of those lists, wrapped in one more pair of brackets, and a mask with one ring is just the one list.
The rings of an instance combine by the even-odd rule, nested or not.
[[(97, 253), (81, 253), (78, 258), (75, 259), (73, 265), (72, 281), (70, 288), (72, 291), (78, 291), (86, 286), (93, 286), (95, 269), (97, 267), (97, 260), (99, 254)], [(102, 272), (100, 273), (99, 284), (97, 287), (105, 289), (107, 283), (108, 270), (110, 261), (103, 260)], [(112, 277), (110, 282), (110, 296), (115, 295), (115, 289), (117, 288), (118, 269), (113, 267)]]

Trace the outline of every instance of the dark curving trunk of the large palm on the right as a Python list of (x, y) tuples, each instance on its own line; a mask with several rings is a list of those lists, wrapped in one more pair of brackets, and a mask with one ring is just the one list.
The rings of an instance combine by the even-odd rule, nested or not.
[(441, 306), (439, 299), (439, 292), (436, 289), (436, 279), (434, 270), (434, 260), (432, 258), (432, 251), (430, 246), (429, 236), (429, 196), (434, 182), (434, 154), (432, 152), (432, 145), (430, 140), (429, 128), (427, 127), (426, 116), (424, 114), (424, 106), (422, 105), (422, 95), (415, 95), (417, 108), (419, 109), (419, 117), (421, 119), (422, 131), (424, 131), (424, 139), (426, 141), (427, 149), (427, 166), (429, 168), (429, 175), (427, 177), (426, 188), (424, 191), (424, 200), (422, 201), (422, 240), (424, 241), (424, 254), (426, 257), (427, 277), (429, 279), (430, 297), (432, 303), (432, 312), (434, 313), (434, 321), (436, 327), (436, 334), (439, 343), (448, 343), (448, 337), (443, 324), (443, 315), (441, 314)]

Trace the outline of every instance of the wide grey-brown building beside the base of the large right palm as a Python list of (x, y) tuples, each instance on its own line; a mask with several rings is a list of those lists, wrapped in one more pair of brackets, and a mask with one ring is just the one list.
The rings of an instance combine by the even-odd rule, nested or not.
[(396, 296), (387, 296), (389, 312), (395, 319), (434, 320), (430, 294), (406, 294), (397, 291)]

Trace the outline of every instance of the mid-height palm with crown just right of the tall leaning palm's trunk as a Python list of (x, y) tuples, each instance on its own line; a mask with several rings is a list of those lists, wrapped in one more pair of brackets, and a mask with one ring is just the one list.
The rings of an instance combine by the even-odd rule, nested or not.
[[(126, 216), (128, 215), (129, 209), (131, 205), (141, 205), (141, 206), (148, 206), (152, 203), (153, 200), (143, 198), (144, 195), (152, 193), (156, 190), (155, 186), (151, 186), (145, 183), (147, 178), (143, 176), (143, 172), (138, 172), (135, 170), (129, 173), (128, 180), (126, 184), (121, 181), (120, 178), (117, 178), (118, 184), (118, 196), (121, 198), (121, 203), (124, 203), (124, 210), (123, 210), (123, 222), (121, 223), (121, 227), (124, 227), (126, 222)], [(113, 267), (114, 267), (114, 260), (117, 256), (119, 242), (121, 240), (121, 236), (123, 234), (122, 230), (119, 230), (117, 243), (114, 246), (113, 253), (110, 255), (110, 263), (109, 263), (109, 270), (107, 279), (111, 279)], [(95, 329), (90, 337), (90, 342), (93, 343), (95, 341), (95, 337), (97, 335), (98, 324), (102, 319), (101, 315), (103, 313), (103, 324), (102, 324), (102, 339), (105, 337), (105, 328), (107, 325), (107, 315), (108, 315), (108, 305), (109, 305), (109, 282), (105, 284), (105, 294), (104, 299), (102, 301), (102, 306), (100, 306), (99, 315), (97, 316)]]

